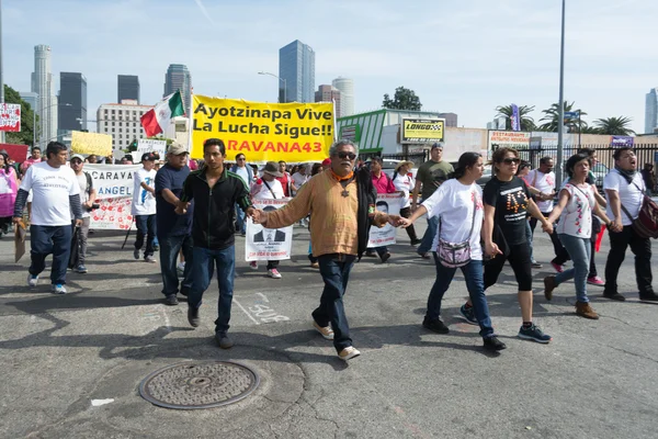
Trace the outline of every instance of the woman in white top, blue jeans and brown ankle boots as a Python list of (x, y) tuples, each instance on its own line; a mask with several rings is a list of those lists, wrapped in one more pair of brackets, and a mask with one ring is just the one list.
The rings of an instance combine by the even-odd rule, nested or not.
[[(590, 236), (592, 232), (592, 212), (608, 225), (615, 227), (601, 210), (594, 198), (592, 187), (587, 183), (590, 170), (590, 158), (586, 154), (576, 154), (567, 160), (566, 166), (569, 181), (559, 191), (557, 206), (548, 215), (548, 223), (553, 224), (559, 216), (556, 233), (565, 246), (574, 268), (565, 270), (557, 275), (544, 278), (544, 295), (553, 299), (553, 290), (560, 283), (574, 279), (576, 285), (576, 314), (586, 318), (599, 318), (599, 315), (589, 304), (587, 296), (587, 275), (590, 263)], [(561, 215), (560, 215), (561, 214)]]

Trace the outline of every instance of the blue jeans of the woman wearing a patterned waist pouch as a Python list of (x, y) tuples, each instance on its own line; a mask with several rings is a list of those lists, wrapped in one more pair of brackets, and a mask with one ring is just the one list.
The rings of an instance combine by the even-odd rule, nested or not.
[[(439, 260), (436, 252), (434, 251), (432, 255), (434, 256), (434, 263), (436, 264), (436, 280), (434, 281), (434, 285), (428, 297), (427, 316), (430, 320), (435, 320), (441, 315), (441, 300), (447, 291), (457, 269), (444, 267)], [(489, 317), (489, 305), (487, 303), (487, 297), (485, 296), (483, 261), (470, 260), (470, 262), (462, 267), (462, 273), (464, 273), (468, 296), (473, 303), (475, 317), (480, 327), (480, 336), (483, 336), (483, 338), (492, 337), (494, 328), (491, 327), (491, 318)]]

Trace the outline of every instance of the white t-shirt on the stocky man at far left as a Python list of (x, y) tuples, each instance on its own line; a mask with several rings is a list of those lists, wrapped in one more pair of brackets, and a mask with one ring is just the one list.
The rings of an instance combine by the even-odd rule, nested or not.
[(21, 188), (32, 190), (31, 223), (36, 226), (70, 226), (70, 195), (80, 194), (76, 172), (68, 166), (53, 168), (47, 161), (32, 165)]

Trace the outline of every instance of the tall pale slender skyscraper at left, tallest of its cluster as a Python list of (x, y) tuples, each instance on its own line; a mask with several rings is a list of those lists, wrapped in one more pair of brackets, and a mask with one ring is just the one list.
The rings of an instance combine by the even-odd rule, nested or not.
[(36, 93), (36, 114), (38, 145), (45, 148), (49, 140), (57, 138), (57, 97), (50, 74), (50, 46), (34, 46), (34, 72), (32, 74), (32, 92)]

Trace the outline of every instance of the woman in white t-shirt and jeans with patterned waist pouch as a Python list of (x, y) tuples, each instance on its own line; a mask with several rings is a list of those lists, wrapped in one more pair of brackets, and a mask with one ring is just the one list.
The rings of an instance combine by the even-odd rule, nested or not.
[(434, 237), (434, 262), (436, 280), (428, 299), (428, 311), (422, 326), (439, 334), (447, 334), (447, 326), (441, 320), (441, 301), (455, 274), (456, 268), (444, 266), (436, 255), (440, 239), (447, 243), (468, 241), (470, 260), (461, 267), (466, 279), (468, 295), (473, 301), (475, 315), (480, 327), (484, 347), (490, 351), (506, 348), (494, 334), (489, 306), (485, 296), (483, 270), (483, 249), (480, 230), (484, 219), (483, 193), (476, 180), (483, 176), (483, 157), (477, 153), (464, 153), (460, 157), (453, 178), (446, 180), (429, 199), (416, 210), (409, 218), (401, 218), (400, 224), (408, 227), (426, 213), (431, 218), (438, 216), (440, 227)]

